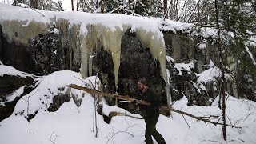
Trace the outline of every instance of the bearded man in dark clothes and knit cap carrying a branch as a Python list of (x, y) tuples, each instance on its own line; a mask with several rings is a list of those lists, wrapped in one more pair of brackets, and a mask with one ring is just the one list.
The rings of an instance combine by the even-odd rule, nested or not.
[[(150, 102), (150, 106), (138, 105), (141, 111), (142, 117), (146, 123), (145, 130), (145, 142), (146, 144), (153, 144), (152, 137), (158, 142), (158, 144), (166, 144), (165, 139), (156, 130), (156, 124), (159, 117), (159, 106), (161, 106), (161, 99), (147, 86), (146, 79), (140, 78), (138, 80), (138, 90), (140, 91), (140, 98), (142, 101)], [(136, 103), (134, 101), (133, 103)]]

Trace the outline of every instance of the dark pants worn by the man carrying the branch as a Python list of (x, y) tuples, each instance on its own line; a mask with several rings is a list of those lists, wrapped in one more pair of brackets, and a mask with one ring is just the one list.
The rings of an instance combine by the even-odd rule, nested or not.
[(158, 117), (155, 118), (145, 118), (146, 131), (145, 131), (145, 142), (146, 144), (153, 144), (152, 137), (158, 142), (158, 144), (166, 144), (165, 139), (162, 138), (162, 135), (158, 133), (155, 126), (158, 122)]

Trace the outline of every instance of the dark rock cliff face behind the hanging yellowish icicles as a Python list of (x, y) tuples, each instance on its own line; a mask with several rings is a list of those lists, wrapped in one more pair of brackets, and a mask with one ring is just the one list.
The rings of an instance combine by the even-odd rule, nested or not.
[[(105, 91), (117, 91), (118, 94), (128, 94), (134, 97), (137, 80), (144, 77), (149, 80), (150, 86), (154, 87), (156, 93), (162, 95), (162, 102), (167, 104), (166, 82), (161, 76), (161, 64), (154, 58), (150, 48), (146, 47), (138, 38), (138, 35), (130, 33), (129, 29), (126, 30), (122, 36), (121, 49), (116, 53), (106, 50), (100, 39), (97, 47), (91, 49), (92, 51), (82, 51), (82, 39), (78, 38), (78, 33), (74, 33), (78, 26), (72, 26), (69, 30), (66, 21), (62, 20), (57, 24), (59, 26), (51, 26), (49, 30), (44, 30), (36, 35), (34, 41), (29, 39), (27, 44), (10, 42), (8, 38), (4, 37), (4, 34), (1, 34), (2, 62), (32, 74), (50, 74), (66, 69), (79, 72), (83, 61), (81, 55), (90, 52), (90, 54), (86, 54), (87, 69), (83, 72), (86, 73), (86, 76), (98, 73)], [(170, 94), (173, 100), (182, 98), (183, 95), (194, 95), (194, 98), (190, 98), (191, 105), (195, 99), (200, 99), (197, 104), (208, 105), (209, 94), (213, 98), (216, 95), (212, 95), (213, 92), (209, 91), (209, 93), (203, 90), (202, 93), (198, 92), (194, 73), (198, 74), (206, 70), (204, 66), (209, 63), (209, 56), (204, 56), (205, 52), (198, 49), (196, 42), (188, 34), (165, 32), (164, 40), (166, 55), (174, 59), (174, 62), (167, 62), (166, 65), (170, 73)], [(92, 41), (94, 41), (93, 37)], [(89, 41), (87, 40), (87, 42)], [(90, 46), (90, 43), (87, 44)], [(114, 54), (117, 53), (120, 53), (118, 88), (116, 87), (113, 59)], [(182, 75), (175, 67), (175, 63), (191, 62), (194, 64), (193, 68), (191, 67), (190, 71), (182, 69)], [(211, 89), (209, 88), (209, 90)]]

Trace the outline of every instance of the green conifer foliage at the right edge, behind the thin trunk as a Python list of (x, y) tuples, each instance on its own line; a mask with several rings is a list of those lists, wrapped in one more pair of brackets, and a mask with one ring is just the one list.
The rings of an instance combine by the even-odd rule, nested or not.
[[(222, 31), (228, 39), (227, 53), (234, 67), (238, 97), (256, 100), (256, 16), (254, 0), (221, 1)], [(226, 33), (225, 33), (226, 32)], [(231, 38), (229, 38), (231, 37)]]

